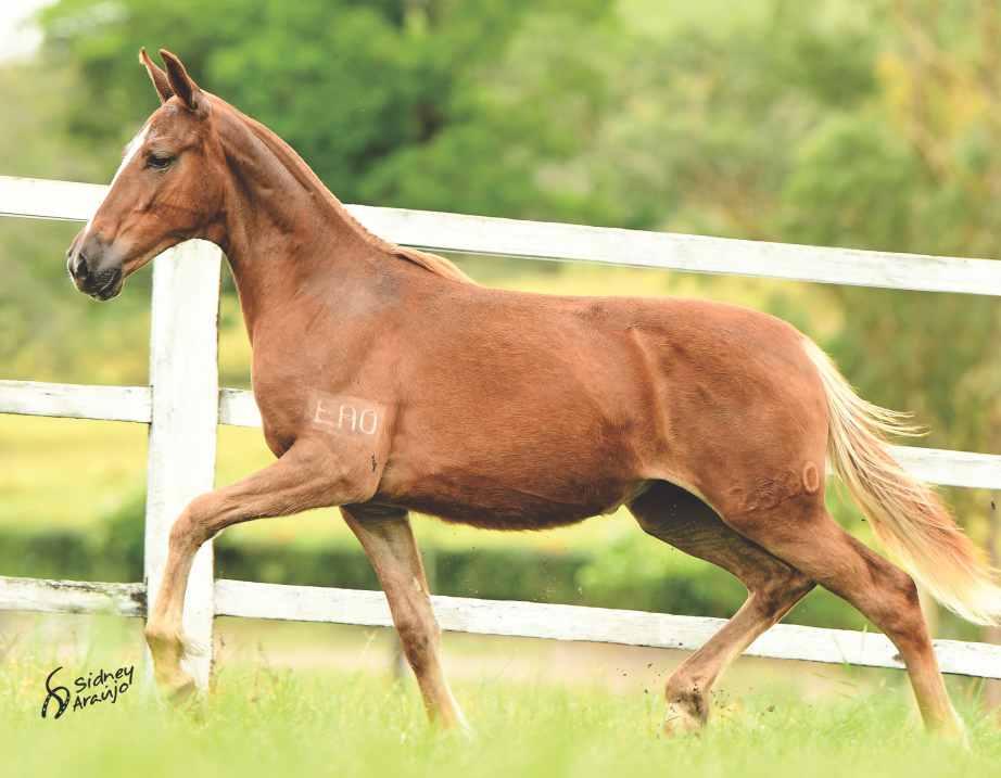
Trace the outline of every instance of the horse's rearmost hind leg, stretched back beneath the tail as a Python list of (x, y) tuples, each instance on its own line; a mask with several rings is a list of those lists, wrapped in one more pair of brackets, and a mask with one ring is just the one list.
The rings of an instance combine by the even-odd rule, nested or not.
[(819, 495), (801, 495), (772, 509), (727, 515), (725, 520), (742, 535), (847, 600), (882, 629), (907, 665), (927, 728), (965, 740), (910, 575), (845, 532), (824, 509)]

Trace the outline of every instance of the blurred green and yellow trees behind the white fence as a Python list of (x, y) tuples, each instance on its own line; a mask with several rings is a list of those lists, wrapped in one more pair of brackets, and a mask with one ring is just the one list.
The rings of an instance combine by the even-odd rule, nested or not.
[[(0, 64), (8, 175), (109, 180), (156, 105), (137, 50), (166, 47), (346, 202), (998, 256), (996, 0), (58, 0), (40, 24), (37, 56)], [(0, 220), (5, 377), (143, 381), (144, 295), (66, 313), (74, 230)], [(586, 291), (496, 262), (470, 267)], [(804, 329), (925, 445), (1001, 452), (997, 299), (697, 283)], [(986, 496), (949, 498), (983, 543)], [(630, 569), (620, 552), (581, 581)]]

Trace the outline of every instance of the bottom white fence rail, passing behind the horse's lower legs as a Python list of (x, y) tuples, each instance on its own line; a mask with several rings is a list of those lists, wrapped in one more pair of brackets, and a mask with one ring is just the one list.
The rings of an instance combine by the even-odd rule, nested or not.
[[(145, 615), (142, 584), (0, 578), (0, 610), (42, 613)], [(276, 621), (392, 626), (381, 591), (286, 586), (250, 581), (215, 582), (215, 615)], [(586, 640), (694, 651), (726, 621), (643, 611), (542, 602), (432, 596), (443, 629), (477, 635)], [(1001, 646), (935, 640), (943, 673), (1001, 678)], [(749, 656), (902, 669), (894, 645), (878, 633), (778, 624), (744, 652)]]

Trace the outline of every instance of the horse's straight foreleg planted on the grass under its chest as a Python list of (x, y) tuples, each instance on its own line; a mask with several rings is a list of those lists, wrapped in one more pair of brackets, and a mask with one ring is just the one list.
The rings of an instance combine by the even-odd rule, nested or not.
[(379, 576), (407, 662), (432, 722), (469, 729), (439, 655), (441, 629), (431, 609), (420, 551), (404, 510), (342, 506), (341, 513)]

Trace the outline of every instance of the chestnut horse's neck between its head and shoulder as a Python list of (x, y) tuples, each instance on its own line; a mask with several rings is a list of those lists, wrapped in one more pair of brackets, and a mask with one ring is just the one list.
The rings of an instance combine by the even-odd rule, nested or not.
[[(268, 131), (269, 132), (269, 131)], [(241, 133), (227, 151), (231, 183), (226, 237), (251, 342), (259, 327), (302, 308), (309, 294), (377, 286), (388, 244), (367, 233), (277, 136)], [(305, 311), (304, 311), (305, 313)]]

